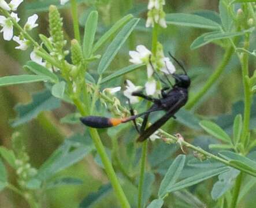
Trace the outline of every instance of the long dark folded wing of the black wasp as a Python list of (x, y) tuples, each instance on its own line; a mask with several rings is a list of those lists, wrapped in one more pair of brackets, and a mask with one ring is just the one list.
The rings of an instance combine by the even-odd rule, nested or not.
[(142, 135), (139, 136), (139, 138), (137, 139), (137, 142), (143, 142), (144, 140), (146, 140), (147, 138), (149, 138), (149, 136), (153, 135), (153, 133), (155, 131), (157, 131), (157, 129), (159, 129), (160, 127), (162, 127), (162, 125), (165, 124), (166, 121), (169, 120), (170, 117), (174, 116), (174, 114), (177, 112), (177, 110), (180, 109), (180, 107), (182, 107), (182, 103), (184, 102), (186, 98), (185, 97), (181, 97), (179, 99), (179, 101), (177, 101), (175, 103), (175, 105), (173, 105), (168, 112), (166, 112), (166, 114), (164, 116), (162, 116), (161, 118), (159, 118), (157, 121), (154, 122), (154, 124), (152, 124), (149, 128), (147, 128)]

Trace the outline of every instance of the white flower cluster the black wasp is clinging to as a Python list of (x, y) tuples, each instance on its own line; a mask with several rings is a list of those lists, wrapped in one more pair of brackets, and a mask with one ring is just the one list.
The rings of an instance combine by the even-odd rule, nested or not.
[[(159, 47), (158, 47), (159, 48)], [(145, 46), (139, 45), (136, 47), (136, 51), (129, 51), (131, 59), (129, 60), (133, 64), (146, 64), (147, 66), (147, 78), (148, 81), (145, 84), (145, 90), (147, 95), (157, 94), (157, 82), (154, 80), (153, 73), (156, 68), (159, 68), (161, 72), (166, 74), (175, 73), (175, 66), (172, 64), (168, 57), (164, 57), (164, 53), (161, 50), (157, 51), (157, 62), (151, 62), (151, 51)], [(157, 67), (155, 67), (157, 66)], [(129, 98), (131, 103), (139, 102), (138, 97), (132, 96), (132, 92), (140, 90), (142, 87), (136, 87), (131, 81), (127, 80), (127, 89), (124, 91), (124, 95)]]

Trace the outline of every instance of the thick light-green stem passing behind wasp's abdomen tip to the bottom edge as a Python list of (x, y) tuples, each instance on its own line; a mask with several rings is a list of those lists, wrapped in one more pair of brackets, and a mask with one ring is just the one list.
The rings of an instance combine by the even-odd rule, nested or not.
[[(84, 107), (82, 103), (79, 101), (79, 99), (74, 98), (73, 102), (77, 106), (77, 109), (79, 109), (79, 112), (81, 113), (82, 116), (89, 116), (88, 112), (88, 103), (86, 103), (87, 107)], [(87, 101), (88, 102), (88, 101)], [(106, 151), (103, 147), (103, 144), (101, 142), (101, 139), (99, 138), (99, 134), (96, 129), (94, 128), (89, 128), (91, 138), (94, 142), (94, 145), (97, 149), (97, 152), (99, 156), (101, 157), (102, 163), (105, 167), (107, 176), (113, 186), (114, 192), (116, 192), (117, 198), (120, 200), (121, 206), (125, 208), (129, 208), (129, 202), (124, 194), (124, 191), (117, 179), (116, 173), (114, 172), (113, 166), (107, 157)]]

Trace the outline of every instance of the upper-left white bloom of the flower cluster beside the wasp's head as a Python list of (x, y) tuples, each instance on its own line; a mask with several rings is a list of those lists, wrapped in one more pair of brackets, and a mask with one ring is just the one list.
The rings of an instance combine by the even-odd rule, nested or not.
[(129, 51), (131, 59), (129, 60), (133, 64), (142, 64), (145, 61), (149, 60), (151, 51), (143, 45), (138, 45), (136, 47), (137, 51)]

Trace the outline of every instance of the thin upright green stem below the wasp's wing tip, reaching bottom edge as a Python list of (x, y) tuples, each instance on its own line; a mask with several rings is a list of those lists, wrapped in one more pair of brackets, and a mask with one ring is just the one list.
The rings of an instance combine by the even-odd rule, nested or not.
[(144, 183), (146, 158), (147, 158), (147, 140), (145, 142), (143, 142), (143, 146), (142, 146), (142, 160), (140, 162), (138, 208), (142, 207), (142, 194), (143, 194), (143, 183)]

